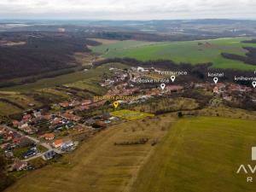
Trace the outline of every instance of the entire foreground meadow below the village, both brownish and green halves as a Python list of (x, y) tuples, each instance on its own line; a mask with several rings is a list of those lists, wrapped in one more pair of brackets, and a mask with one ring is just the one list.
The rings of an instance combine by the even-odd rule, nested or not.
[[(6, 192), (254, 191), (256, 183), (236, 174), (241, 164), (253, 165), (254, 127), (253, 120), (172, 114), (113, 125)], [(149, 141), (113, 144), (140, 138)]]

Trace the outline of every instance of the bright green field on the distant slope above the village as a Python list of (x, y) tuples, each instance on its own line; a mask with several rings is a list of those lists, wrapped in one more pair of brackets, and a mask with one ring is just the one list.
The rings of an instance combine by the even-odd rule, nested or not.
[[(247, 65), (241, 61), (224, 59), (222, 52), (245, 55), (243, 46), (256, 44), (243, 44), (241, 41), (248, 38), (218, 38), (201, 41), (145, 43), (137, 41), (120, 41), (114, 44), (103, 44), (93, 47), (96, 53), (103, 57), (131, 57), (140, 61), (166, 59), (176, 62), (192, 64), (212, 62), (212, 67), (236, 68), (242, 70), (255, 70), (255, 66)], [(201, 44), (198, 44), (201, 43)]]

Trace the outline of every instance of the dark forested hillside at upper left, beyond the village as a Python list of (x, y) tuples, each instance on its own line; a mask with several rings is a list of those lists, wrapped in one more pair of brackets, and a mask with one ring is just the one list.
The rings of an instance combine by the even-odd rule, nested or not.
[(75, 52), (90, 52), (98, 43), (57, 32), (0, 33), (0, 80), (75, 67)]

